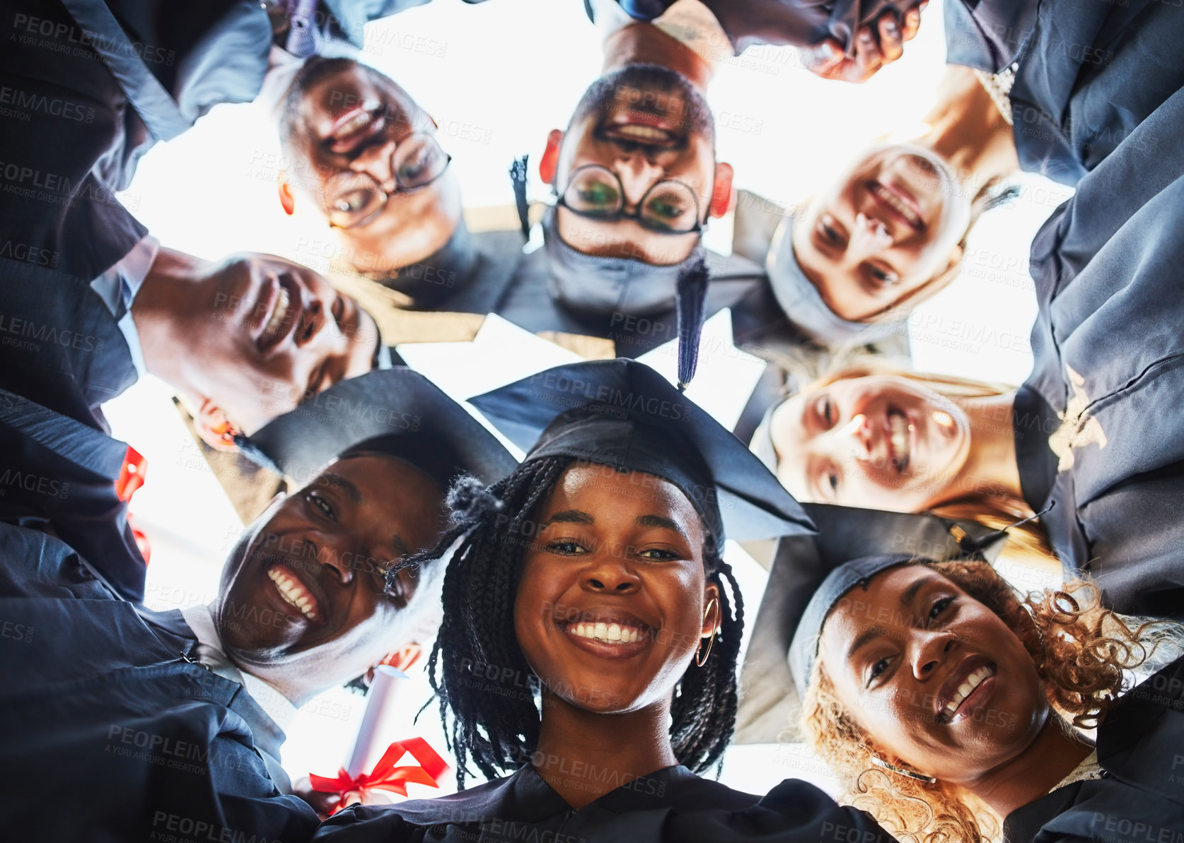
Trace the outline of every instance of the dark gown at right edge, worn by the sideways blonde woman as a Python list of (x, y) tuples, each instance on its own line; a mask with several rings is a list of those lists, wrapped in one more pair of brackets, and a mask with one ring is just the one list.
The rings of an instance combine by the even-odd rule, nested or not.
[[(1015, 408), (1024, 498), (1066, 576), (1118, 611), (1184, 620), (1184, 91), (1081, 180), (1032, 241), (1032, 374)], [(1063, 421), (1062, 421), (1063, 420)]]

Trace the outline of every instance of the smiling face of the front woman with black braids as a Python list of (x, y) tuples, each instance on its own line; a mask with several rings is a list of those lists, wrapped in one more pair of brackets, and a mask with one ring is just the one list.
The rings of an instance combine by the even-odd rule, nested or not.
[(716, 624), (703, 618), (719, 591), (706, 582), (694, 506), (652, 475), (573, 466), (538, 523), (514, 630), (543, 687), (597, 713), (669, 705)]

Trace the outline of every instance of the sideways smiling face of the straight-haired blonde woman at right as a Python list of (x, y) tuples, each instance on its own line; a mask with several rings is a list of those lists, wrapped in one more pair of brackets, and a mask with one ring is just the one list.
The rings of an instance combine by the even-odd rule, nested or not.
[(777, 476), (798, 500), (920, 512), (958, 495), (970, 421), (950, 398), (876, 375), (807, 389), (773, 411)]

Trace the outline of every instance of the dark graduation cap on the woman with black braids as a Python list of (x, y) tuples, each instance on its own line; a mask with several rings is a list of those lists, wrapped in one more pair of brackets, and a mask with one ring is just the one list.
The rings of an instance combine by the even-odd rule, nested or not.
[(644, 363), (572, 363), (485, 393), (477, 407), (526, 460), (570, 456), (673, 482), (719, 547), (725, 533), (806, 533), (810, 518), (745, 446)]

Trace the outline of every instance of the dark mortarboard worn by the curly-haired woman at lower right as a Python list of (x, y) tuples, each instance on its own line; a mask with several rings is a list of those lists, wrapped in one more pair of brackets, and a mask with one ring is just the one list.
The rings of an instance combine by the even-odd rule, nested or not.
[(768, 744), (797, 729), (796, 712), (823, 621), (863, 578), (915, 557), (978, 553), (1002, 533), (937, 515), (805, 504), (813, 536), (778, 543), (740, 674), (736, 741)]

